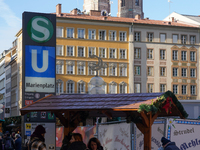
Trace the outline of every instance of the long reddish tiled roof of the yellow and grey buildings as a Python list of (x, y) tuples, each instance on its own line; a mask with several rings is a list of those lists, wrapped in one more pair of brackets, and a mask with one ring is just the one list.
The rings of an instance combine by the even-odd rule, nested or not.
[(188, 25), (178, 22), (169, 22), (162, 20), (150, 20), (150, 19), (135, 19), (135, 18), (122, 18), (122, 17), (111, 17), (111, 16), (90, 16), (90, 15), (73, 15), (70, 13), (62, 13), (57, 15), (60, 18), (69, 19), (84, 19), (84, 20), (95, 20), (105, 22), (119, 22), (119, 23), (134, 23), (134, 24), (149, 24), (149, 25), (164, 25), (164, 26), (177, 26), (177, 27), (192, 27), (198, 28), (197, 25)]

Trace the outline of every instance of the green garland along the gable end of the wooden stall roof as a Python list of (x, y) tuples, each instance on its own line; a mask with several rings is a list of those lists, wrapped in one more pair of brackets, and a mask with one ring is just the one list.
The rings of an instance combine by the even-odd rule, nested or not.
[(155, 102), (153, 102), (153, 100), (152, 100), (152, 103), (150, 105), (141, 104), (139, 106), (138, 112), (140, 113), (142, 111), (146, 111), (146, 112), (150, 112), (151, 111), (153, 114), (157, 113), (158, 111), (160, 111), (160, 108), (161, 108), (163, 102), (167, 99), (167, 97), (171, 97), (172, 98), (172, 101), (174, 102), (176, 107), (179, 109), (179, 111), (181, 112), (182, 116), (184, 118), (187, 118), (188, 114), (184, 110), (183, 105), (178, 101), (176, 96), (171, 91), (165, 92), (162, 96), (158, 97)]

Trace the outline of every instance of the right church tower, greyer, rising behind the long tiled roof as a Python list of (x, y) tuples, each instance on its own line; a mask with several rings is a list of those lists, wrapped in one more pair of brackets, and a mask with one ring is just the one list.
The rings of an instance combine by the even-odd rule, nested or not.
[(135, 18), (136, 15), (144, 18), (143, 0), (118, 0), (118, 17)]

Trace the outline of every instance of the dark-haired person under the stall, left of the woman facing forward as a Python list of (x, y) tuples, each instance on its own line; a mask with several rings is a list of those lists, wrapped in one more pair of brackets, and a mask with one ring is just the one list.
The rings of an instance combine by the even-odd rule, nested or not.
[(67, 150), (85, 150), (86, 145), (83, 143), (83, 138), (80, 133), (72, 133), (72, 138), (70, 140), (70, 146)]

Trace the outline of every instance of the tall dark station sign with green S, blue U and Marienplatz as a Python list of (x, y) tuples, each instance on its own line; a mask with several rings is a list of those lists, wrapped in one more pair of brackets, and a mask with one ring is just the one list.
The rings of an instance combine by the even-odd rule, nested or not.
[[(56, 15), (24, 12), (22, 32), (22, 97), (25, 106), (48, 94), (55, 94)], [(25, 116), (25, 120), (48, 122), (55, 119), (41, 119), (39, 112), (31, 116)]]

